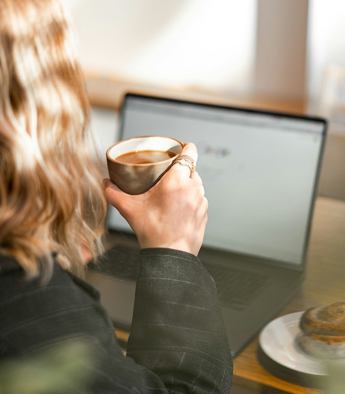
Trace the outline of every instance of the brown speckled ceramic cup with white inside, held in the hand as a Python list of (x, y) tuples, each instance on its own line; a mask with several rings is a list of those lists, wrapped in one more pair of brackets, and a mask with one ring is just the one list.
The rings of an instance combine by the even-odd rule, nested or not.
[[(124, 139), (107, 150), (110, 180), (127, 194), (142, 194), (154, 186), (172, 166), (182, 151), (183, 144), (177, 139), (162, 136), (144, 136)], [(123, 163), (118, 156), (137, 151), (170, 151), (175, 156), (162, 162), (148, 164)]]

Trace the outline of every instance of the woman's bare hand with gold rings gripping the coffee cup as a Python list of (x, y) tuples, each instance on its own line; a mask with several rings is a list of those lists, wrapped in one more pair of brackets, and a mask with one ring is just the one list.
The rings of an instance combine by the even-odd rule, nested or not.
[[(181, 154), (197, 160), (193, 143)], [(129, 195), (109, 179), (103, 181), (105, 197), (127, 220), (142, 249), (166, 247), (193, 255), (199, 253), (207, 223), (207, 199), (199, 175), (174, 164), (149, 191)]]

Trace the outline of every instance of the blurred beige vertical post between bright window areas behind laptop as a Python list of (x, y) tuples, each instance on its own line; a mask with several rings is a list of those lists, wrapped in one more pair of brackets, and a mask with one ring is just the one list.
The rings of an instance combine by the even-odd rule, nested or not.
[(255, 91), (302, 100), (308, 0), (258, 0)]

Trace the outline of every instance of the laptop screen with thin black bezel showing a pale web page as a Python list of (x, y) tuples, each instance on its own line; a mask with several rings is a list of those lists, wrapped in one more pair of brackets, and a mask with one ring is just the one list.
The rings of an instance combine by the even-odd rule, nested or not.
[[(127, 95), (120, 139), (145, 135), (196, 144), (204, 246), (303, 262), (325, 121)], [(114, 209), (109, 227), (130, 230)]]

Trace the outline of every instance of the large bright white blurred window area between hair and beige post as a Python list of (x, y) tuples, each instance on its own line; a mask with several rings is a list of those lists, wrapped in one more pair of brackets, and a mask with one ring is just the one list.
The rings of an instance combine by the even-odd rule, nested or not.
[(257, 0), (70, 0), (83, 68), (139, 82), (248, 93)]

